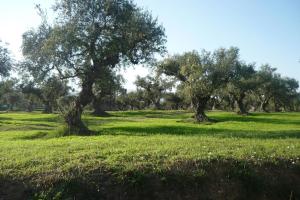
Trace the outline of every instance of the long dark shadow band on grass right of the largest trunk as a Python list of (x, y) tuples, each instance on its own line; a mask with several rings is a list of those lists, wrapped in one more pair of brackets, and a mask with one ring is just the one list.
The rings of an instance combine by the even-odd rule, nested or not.
[(242, 131), (231, 129), (220, 129), (207, 127), (187, 127), (187, 126), (152, 126), (152, 127), (115, 127), (104, 129), (104, 132), (110, 135), (198, 135), (214, 136), (221, 138), (256, 138), (256, 139), (287, 139), (300, 138), (300, 131)]

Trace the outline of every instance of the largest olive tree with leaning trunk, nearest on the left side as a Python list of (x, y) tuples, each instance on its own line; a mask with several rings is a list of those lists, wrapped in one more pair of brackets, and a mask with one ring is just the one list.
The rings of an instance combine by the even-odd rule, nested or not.
[(131, 0), (59, 0), (54, 13), (51, 25), (43, 20), (24, 34), (25, 65), (39, 76), (55, 70), (60, 78), (79, 79), (80, 92), (64, 118), (69, 133), (86, 134), (81, 115), (103, 70), (164, 52), (164, 29)]

